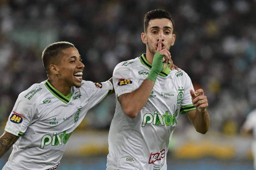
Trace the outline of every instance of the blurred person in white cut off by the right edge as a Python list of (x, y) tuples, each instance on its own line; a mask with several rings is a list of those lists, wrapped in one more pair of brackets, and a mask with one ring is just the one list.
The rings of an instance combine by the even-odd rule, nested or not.
[(252, 110), (246, 117), (244, 124), (242, 125), (242, 134), (248, 134), (253, 136), (251, 143), (251, 151), (253, 154), (253, 166), (256, 170), (256, 109)]

